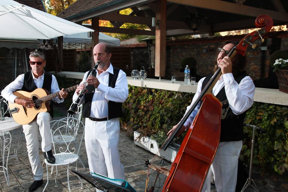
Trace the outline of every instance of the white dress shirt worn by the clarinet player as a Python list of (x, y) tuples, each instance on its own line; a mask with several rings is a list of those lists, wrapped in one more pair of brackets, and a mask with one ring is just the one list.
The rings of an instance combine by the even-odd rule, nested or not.
[[(86, 77), (88, 75), (87, 71), (84, 75), (84, 78), (82, 79), (82, 83), (86, 81)], [(100, 84), (98, 85), (98, 88), (95, 88), (95, 92), (92, 98), (91, 103), (91, 113), (90, 117), (92, 118), (98, 118), (102, 119), (108, 116), (108, 101), (114, 101), (123, 103), (127, 97), (128, 97), (128, 83), (126, 78), (126, 73), (122, 70), (119, 71), (115, 88), (108, 86), (109, 81), (109, 73), (113, 73), (113, 66), (110, 63), (110, 66), (106, 71), (103, 71), (100, 75), (98, 73), (98, 70), (96, 70), (96, 77)], [(79, 104), (83, 103), (85, 96), (82, 97)], [(73, 102), (76, 101), (78, 98), (78, 95), (76, 92), (73, 95)]]

